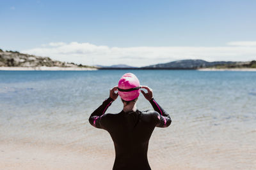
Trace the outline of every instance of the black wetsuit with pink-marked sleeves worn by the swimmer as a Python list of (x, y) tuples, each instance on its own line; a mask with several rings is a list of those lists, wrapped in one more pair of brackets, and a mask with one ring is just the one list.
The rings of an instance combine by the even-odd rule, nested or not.
[(89, 118), (94, 127), (105, 129), (115, 145), (113, 169), (150, 169), (147, 159), (148, 141), (155, 127), (168, 127), (170, 116), (151, 99), (154, 110), (104, 114), (113, 102), (110, 97)]

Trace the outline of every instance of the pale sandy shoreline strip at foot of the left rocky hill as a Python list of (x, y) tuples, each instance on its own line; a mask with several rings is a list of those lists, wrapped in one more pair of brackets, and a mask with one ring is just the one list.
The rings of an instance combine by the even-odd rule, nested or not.
[(93, 71), (90, 67), (0, 67), (0, 71)]

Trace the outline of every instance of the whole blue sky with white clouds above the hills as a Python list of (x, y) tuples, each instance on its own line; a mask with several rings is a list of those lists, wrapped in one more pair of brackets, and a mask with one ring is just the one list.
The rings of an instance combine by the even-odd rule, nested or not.
[[(89, 65), (104, 64), (111, 59), (115, 62), (106, 64), (127, 63), (122, 60), (125, 57), (141, 58), (138, 62), (143, 62), (147, 53), (150, 53), (147, 64), (196, 59), (195, 51), (200, 49), (197, 57), (206, 60), (250, 60), (256, 57), (255, 9), (253, 0), (1, 1), (0, 48)], [(61, 46), (70, 48), (68, 53), (58, 52)], [(105, 51), (100, 52), (102, 46)], [(177, 46), (181, 51), (182, 47), (193, 49), (191, 57), (189, 52), (175, 55), (173, 48)], [(232, 58), (237, 46), (243, 48)], [(211, 57), (211, 50), (202, 53), (199, 47), (204, 47), (204, 51), (217, 47), (233, 50), (225, 51), (223, 56), (220, 51), (215, 54), (218, 56)], [(170, 48), (166, 50), (169, 54), (161, 53), (161, 48)], [(152, 53), (156, 55), (151, 56)]]

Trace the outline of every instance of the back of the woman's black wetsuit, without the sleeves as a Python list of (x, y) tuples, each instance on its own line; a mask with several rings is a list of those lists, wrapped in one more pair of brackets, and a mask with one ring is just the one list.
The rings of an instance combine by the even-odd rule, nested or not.
[[(150, 114), (151, 113), (151, 114)], [(115, 145), (113, 169), (150, 169), (147, 159), (148, 141), (156, 121), (154, 111), (106, 114), (102, 125)]]

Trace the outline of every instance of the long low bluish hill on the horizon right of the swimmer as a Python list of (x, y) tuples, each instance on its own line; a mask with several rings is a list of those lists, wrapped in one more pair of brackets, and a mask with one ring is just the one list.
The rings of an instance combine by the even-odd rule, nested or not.
[(235, 64), (237, 62), (232, 61), (216, 61), (216, 62), (207, 62), (205, 60), (177, 60), (173, 62), (155, 64), (151, 66), (145, 66), (142, 68), (146, 69), (196, 69), (202, 67), (211, 67), (216, 65), (223, 64)]

